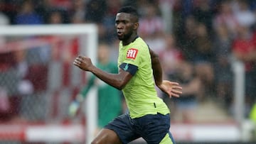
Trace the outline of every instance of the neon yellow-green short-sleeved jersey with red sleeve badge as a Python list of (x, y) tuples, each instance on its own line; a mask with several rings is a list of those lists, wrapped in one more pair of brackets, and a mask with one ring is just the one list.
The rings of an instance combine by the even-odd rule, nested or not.
[(133, 75), (122, 89), (131, 118), (170, 112), (164, 101), (157, 96), (149, 48), (142, 38), (137, 38), (129, 45), (119, 43), (118, 65)]

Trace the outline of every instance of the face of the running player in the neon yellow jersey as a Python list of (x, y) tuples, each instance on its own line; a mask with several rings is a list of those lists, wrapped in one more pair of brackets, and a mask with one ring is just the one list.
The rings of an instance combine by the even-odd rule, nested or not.
[(134, 18), (129, 13), (117, 13), (115, 27), (118, 39), (128, 40), (134, 31)]

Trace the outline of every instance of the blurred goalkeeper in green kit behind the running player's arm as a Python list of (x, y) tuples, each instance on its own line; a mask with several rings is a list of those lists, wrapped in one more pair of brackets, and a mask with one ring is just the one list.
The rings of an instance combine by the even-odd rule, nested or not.
[[(110, 73), (117, 73), (117, 64), (110, 61), (109, 52), (110, 50), (107, 44), (101, 43), (99, 45), (99, 62), (97, 63), (97, 67)], [(87, 96), (92, 86), (97, 86), (98, 88), (98, 128), (101, 129), (122, 113), (122, 99), (121, 92), (118, 89), (102, 82), (102, 80), (95, 77), (95, 75), (90, 77), (89, 82), (72, 101), (68, 111), (70, 116), (75, 116), (80, 104), (82, 104), (82, 101), (85, 99), (85, 96)]]

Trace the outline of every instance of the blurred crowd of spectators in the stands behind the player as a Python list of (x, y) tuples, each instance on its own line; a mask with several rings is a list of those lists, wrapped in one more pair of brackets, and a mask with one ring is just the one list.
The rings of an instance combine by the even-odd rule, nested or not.
[(114, 19), (125, 5), (138, 9), (139, 36), (159, 54), (165, 79), (183, 86), (181, 98), (161, 96), (184, 122), (193, 121), (193, 109), (206, 99), (233, 113), (234, 60), (245, 64), (247, 116), (256, 102), (256, 1), (1, 0), (0, 24), (96, 23), (99, 41), (111, 45), (115, 58)]

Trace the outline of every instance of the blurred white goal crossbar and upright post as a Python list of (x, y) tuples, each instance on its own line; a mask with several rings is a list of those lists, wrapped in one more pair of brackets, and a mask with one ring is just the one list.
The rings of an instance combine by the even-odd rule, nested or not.
[[(93, 23), (85, 24), (55, 24), (55, 25), (16, 25), (1, 26), (0, 36), (27, 36), (27, 35), (87, 35), (87, 49), (82, 48), (82, 54), (90, 56), (93, 63), (97, 62), (97, 26)], [(86, 142), (90, 143), (97, 128), (97, 89), (92, 89), (88, 94), (85, 106), (87, 116)]]

